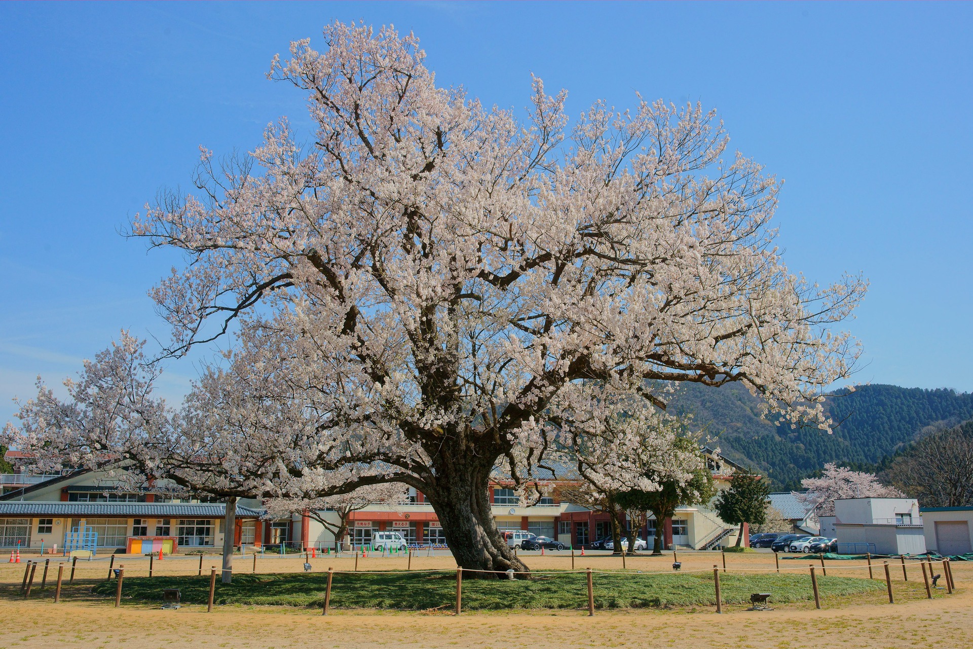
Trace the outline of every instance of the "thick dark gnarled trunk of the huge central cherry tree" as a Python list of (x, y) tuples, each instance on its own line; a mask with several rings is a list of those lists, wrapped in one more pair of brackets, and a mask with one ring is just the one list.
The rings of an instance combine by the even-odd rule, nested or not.
[(425, 491), (452, 557), (464, 570), (483, 571), (471, 573), (470, 578), (506, 576), (503, 573), (511, 568), (528, 572), (493, 522), (488, 491), (493, 461), (483, 456), (473, 459), (437, 467), (436, 485)]

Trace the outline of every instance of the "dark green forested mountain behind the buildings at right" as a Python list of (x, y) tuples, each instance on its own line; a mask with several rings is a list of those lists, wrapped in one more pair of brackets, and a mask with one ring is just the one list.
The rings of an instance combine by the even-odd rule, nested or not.
[(825, 408), (838, 424), (830, 435), (761, 419), (759, 399), (735, 383), (681, 385), (669, 410), (693, 414), (694, 427), (706, 426), (727, 457), (760, 470), (775, 488), (789, 489), (825, 462), (876, 464), (926, 426), (973, 418), (973, 394), (863, 385), (828, 395)]

